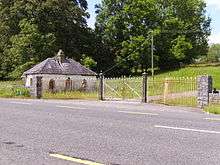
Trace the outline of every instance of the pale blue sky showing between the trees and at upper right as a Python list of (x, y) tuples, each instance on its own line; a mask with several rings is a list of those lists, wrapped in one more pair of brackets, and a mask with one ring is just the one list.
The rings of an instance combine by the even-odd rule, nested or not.
[[(207, 3), (207, 15), (211, 17), (212, 34), (209, 37), (209, 43), (220, 43), (220, 0), (205, 0)], [(89, 4), (89, 13), (91, 15), (88, 25), (94, 28), (95, 23), (95, 4), (101, 3), (101, 0), (87, 0)]]

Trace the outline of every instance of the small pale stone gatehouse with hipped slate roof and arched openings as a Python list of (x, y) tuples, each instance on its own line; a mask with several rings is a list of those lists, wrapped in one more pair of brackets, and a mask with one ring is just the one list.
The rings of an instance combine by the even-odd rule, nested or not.
[(96, 89), (97, 74), (73, 59), (66, 58), (60, 50), (53, 58), (48, 58), (23, 73), (25, 86), (36, 88), (37, 77), (41, 77), (42, 91), (93, 91)]

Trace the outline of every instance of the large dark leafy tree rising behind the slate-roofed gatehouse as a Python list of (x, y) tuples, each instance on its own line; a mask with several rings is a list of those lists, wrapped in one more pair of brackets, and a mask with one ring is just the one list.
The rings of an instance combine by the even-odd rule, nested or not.
[(0, 0), (0, 79), (59, 49), (76, 60), (89, 54), (88, 17), (86, 0)]

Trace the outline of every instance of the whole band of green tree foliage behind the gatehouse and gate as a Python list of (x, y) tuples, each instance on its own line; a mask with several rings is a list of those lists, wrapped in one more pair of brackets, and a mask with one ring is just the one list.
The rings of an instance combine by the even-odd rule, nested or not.
[(152, 36), (160, 69), (207, 54), (210, 18), (202, 0), (103, 0), (94, 31), (87, 7), (86, 0), (0, 0), (0, 79), (19, 77), (26, 63), (59, 49), (107, 76), (138, 75), (151, 65)]

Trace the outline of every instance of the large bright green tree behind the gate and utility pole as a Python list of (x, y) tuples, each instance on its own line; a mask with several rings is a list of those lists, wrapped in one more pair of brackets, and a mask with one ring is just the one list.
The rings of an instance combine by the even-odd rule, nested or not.
[(207, 54), (210, 18), (205, 7), (203, 0), (103, 0), (97, 6), (96, 31), (122, 73), (149, 68), (152, 35), (158, 66), (174, 67)]

